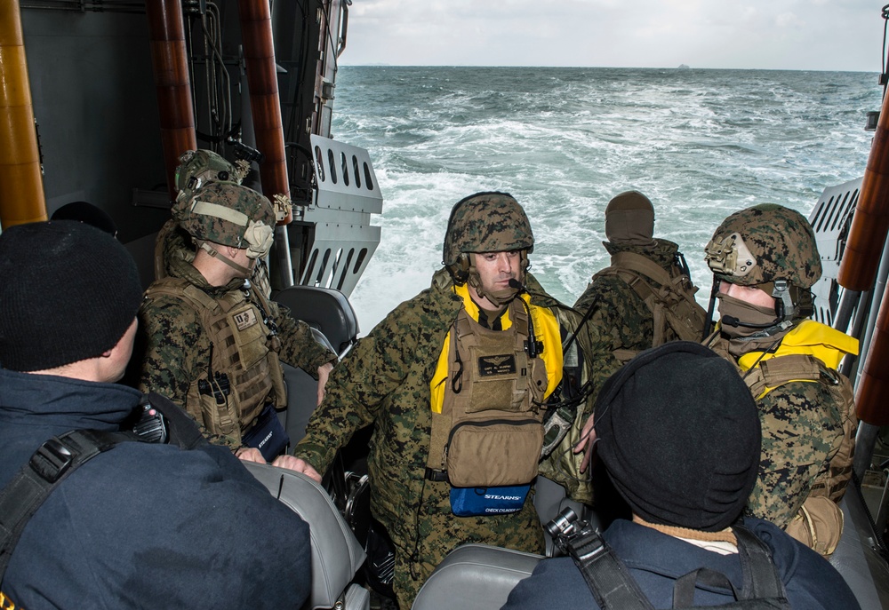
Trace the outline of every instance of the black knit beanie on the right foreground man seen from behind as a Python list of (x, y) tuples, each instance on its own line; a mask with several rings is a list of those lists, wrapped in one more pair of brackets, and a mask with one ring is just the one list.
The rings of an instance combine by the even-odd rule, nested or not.
[(677, 341), (640, 353), (602, 386), (597, 452), (651, 523), (715, 532), (741, 514), (757, 479), (757, 405), (733, 365)]

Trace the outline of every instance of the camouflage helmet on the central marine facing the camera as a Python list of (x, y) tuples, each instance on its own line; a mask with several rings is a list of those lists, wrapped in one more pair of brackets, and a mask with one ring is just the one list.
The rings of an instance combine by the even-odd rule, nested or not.
[(506, 193), (477, 193), (457, 202), (445, 233), (444, 264), (461, 254), (534, 250), (534, 234), (525, 210)]

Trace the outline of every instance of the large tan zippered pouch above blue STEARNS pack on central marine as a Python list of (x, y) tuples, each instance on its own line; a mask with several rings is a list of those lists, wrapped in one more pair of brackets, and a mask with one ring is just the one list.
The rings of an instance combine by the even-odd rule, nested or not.
[(461, 422), (445, 446), (448, 480), (453, 487), (525, 485), (537, 476), (542, 447), (537, 419)]

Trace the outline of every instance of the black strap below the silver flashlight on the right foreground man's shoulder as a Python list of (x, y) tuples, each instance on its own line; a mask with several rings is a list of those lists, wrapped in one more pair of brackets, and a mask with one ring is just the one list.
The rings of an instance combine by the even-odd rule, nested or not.
[(573, 538), (568, 553), (602, 610), (653, 610), (627, 566), (594, 529)]

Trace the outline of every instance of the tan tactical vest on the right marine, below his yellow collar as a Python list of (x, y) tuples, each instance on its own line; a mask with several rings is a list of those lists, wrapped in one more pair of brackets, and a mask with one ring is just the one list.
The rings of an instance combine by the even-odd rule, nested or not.
[(762, 360), (749, 370), (744, 381), (757, 400), (791, 381), (826, 384), (840, 405), (843, 437), (836, 453), (830, 459), (828, 471), (815, 480), (803, 506), (786, 528), (787, 533), (799, 542), (829, 556), (837, 548), (843, 534), (843, 512), (837, 503), (843, 499), (846, 485), (852, 478), (855, 432), (858, 428), (852, 383), (809, 354), (790, 354)]

